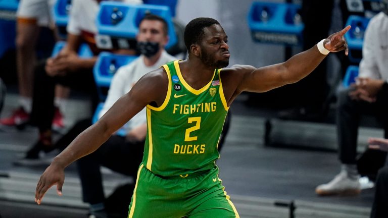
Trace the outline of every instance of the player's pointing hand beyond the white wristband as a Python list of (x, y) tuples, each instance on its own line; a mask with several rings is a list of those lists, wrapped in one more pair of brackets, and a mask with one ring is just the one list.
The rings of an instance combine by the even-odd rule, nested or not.
[(345, 55), (348, 55), (348, 43), (346, 42), (344, 35), (350, 30), (350, 28), (351, 26), (347, 26), (343, 30), (331, 34), (323, 41), (323, 46), (331, 52), (345, 50)]

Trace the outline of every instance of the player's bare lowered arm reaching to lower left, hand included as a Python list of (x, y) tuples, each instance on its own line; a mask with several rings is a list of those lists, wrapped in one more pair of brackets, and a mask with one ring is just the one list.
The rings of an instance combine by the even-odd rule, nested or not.
[(58, 195), (62, 195), (64, 169), (75, 160), (98, 149), (147, 104), (161, 105), (166, 97), (167, 87), (167, 74), (162, 68), (143, 76), (98, 122), (79, 134), (54, 158), (36, 185), (35, 202), (40, 204), (46, 191), (54, 185), (57, 185)]

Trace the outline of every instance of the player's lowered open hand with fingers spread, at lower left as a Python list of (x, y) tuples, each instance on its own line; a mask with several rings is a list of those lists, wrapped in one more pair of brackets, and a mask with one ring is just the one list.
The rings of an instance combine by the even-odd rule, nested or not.
[(40, 204), (44, 194), (53, 185), (57, 185), (57, 194), (62, 196), (62, 186), (65, 181), (64, 168), (51, 163), (49, 167), (40, 176), (35, 190), (35, 202)]

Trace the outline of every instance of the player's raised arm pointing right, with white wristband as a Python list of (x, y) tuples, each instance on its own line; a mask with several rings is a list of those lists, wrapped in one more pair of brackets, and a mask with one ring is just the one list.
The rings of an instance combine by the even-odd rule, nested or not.
[[(238, 84), (237, 90), (265, 92), (286, 84), (295, 83), (309, 75), (327, 56), (321, 53), (324, 49), (330, 52), (345, 50), (348, 55), (348, 45), (345, 40), (345, 33), (351, 26), (331, 34), (324, 41), (322, 47), (318, 45), (303, 51), (284, 63), (275, 64), (252, 70), (252, 67), (241, 67), (236, 69), (243, 77)], [(321, 42), (322, 43), (322, 42)], [(320, 51), (321, 50), (321, 51)]]

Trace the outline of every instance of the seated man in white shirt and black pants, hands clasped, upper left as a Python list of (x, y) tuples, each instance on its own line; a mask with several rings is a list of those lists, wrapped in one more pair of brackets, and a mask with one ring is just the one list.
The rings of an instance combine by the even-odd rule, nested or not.
[[(95, 19), (99, 11), (96, 0), (73, 0), (67, 26), (67, 44), (55, 58), (50, 58), (35, 72), (31, 122), (39, 129), (38, 141), (28, 150), (25, 158), (16, 161), (18, 165), (31, 165), (39, 159), (40, 151), (51, 151), (52, 120), (54, 118), (55, 85), (62, 84), (90, 94), (91, 113), (99, 102), (93, 78), (93, 66), (101, 51), (95, 45), (94, 34), (97, 32)], [(123, 0), (139, 3), (138, 0)], [(81, 42), (86, 42), (94, 57), (80, 58), (77, 54)], [(120, 50), (122, 51), (122, 50)], [(119, 51), (117, 51), (119, 52)], [(126, 51), (131, 54), (134, 51)]]

